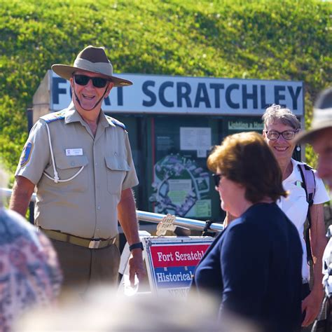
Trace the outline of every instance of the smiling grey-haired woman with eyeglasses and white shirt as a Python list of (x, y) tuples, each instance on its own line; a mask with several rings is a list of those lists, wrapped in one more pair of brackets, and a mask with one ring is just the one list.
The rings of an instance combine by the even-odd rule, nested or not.
[[(266, 109), (263, 115), (263, 137), (270, 146), (275, 155), (279, 167), (282, 170), (282, 184), (284, 189), (289, 192), (288, 198), (281, 198), (277, 203), (282, 211), (289, 217), (298, 229), (303, 249), (302, 265), (302, 326), (312, 324), (319, 314), (321, 301), (324, 292), (321, 286), (321, 259), (326, 246), (324, 211), (323, 203), (328, 201), (328, 194), (324, 188), (321, 179), (315, 179), (315, 191), (313, 196), (313, 205), (310, 207), (310, 248), (313, 261), (313, 282), (310, 291), (310, 268), (307, 263), (307, 254), (303, 228), (307, 219), (308, 202), (303, 179), (300, 174), (299, 166), (303, 162), (298, 162), (292, 158), (294, 148), (296, 147), (296, 134), (300, 131), (300, 121), (289, 110), (279, 105), (272, 105)], [(266, 165), (268, 167), (268, 165)], [(307, 171), (305, 171), (307, 172)], [(311, 282), (310, 282), (311, 284)]]

